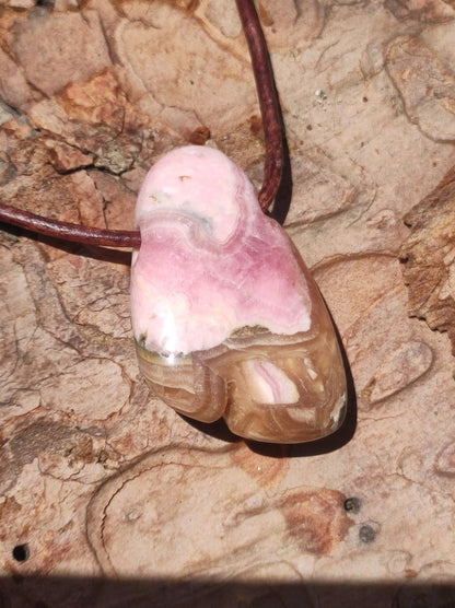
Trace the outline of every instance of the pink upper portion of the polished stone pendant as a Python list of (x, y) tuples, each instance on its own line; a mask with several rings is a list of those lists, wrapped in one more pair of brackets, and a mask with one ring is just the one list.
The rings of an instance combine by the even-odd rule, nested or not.
[(142, 243), (132, 255), (131, 318), (149, 351), (210, 349), (245, 326), (310, 329), (291, 243), (222, 152), (191, 145), (162, 157), (141, 187), (136, 221)]

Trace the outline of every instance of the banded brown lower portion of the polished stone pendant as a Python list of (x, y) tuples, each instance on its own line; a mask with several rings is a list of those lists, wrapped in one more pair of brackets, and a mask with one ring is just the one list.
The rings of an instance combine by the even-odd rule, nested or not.
[(163, 356), (137, 344), (153, 393), (202, 422), (224, 418), (245, 439), (300, 443), (335, 432), (346, 413), (346, 375), (326, 309), (312, 329), (276, 336), (242, 328), (224, 343), (188, 356)]

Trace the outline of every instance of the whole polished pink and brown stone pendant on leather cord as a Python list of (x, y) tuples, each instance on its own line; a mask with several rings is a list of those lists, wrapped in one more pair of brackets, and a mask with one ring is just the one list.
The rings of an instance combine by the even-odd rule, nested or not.
[(334, 432), (346, 376), (328, 312), (243, 171), (210, 148), (175, 150), (148, 173), (136, 221), (132, 328), (153, 391), (247, 439)]

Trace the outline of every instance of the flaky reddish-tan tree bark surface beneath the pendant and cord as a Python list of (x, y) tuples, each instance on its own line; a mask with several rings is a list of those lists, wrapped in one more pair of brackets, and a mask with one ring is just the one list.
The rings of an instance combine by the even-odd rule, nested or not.
[[(455, 601), (455, 9), (257, 8), (292, 163), (284, 226), (350, 363), (348, 422), (287, 448), (190, 424), (139, 374), (128, 252), (3, 226), (5, 606)], [(260, 186), (235, 2), (7, 0), (0, 38), (2, 202), (132, 230), (152, 163), (209, 135)]]

